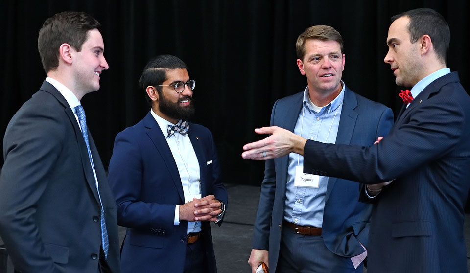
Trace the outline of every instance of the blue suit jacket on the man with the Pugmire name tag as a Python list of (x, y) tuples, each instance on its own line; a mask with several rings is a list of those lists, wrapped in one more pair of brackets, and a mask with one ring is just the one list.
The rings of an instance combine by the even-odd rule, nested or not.
[[(274, 104), (271, 126), (290, 131), (302, 109), (304, 92), (282, 98)], [(386, 136), (393, 125), (390, 108), (368, 100), (347, 87), (336, 143), (372, 145), (377, 137)], [(266, 161), (264, 180), (253, 239), (254, 249), (269, 250), (270, 271), (275, 272), (284, 217), (288, 155)], [(333, 253), (352, 257), (367, 246), (370, 204), (358, 202), (359, 185), (343, 179), (329, 178), (323, 215), (323, 241)]]

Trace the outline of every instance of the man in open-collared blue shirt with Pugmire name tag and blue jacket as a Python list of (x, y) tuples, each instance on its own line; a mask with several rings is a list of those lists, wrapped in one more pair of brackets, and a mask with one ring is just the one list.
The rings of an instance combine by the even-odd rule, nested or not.
[[(341, 81), (345, 54), (334, 28), (307, 28), (296, 49), (308, 85), (276, 101), (271, 126), (325, 143), (372, 145), (388, 134), (392, 111)], [(270, 272), (362, 273), (372, 205), (358, 202), (358, 184), (305, 175), (303, 162), (294, 153), (266, 161), (249, 259), (252, 272), (264, 262)]]

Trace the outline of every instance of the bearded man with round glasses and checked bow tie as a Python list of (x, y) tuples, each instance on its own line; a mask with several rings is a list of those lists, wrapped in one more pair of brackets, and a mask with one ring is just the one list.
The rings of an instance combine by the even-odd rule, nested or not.
[(209, 222), (220, 225), (227, 191), (211, 132), (194, 114), (186, 64), (160, 55), (140, 86), (150, 112), (116, 136), (109, 183), (118, 224), (127, 227), (123, 272), (216, 272)]

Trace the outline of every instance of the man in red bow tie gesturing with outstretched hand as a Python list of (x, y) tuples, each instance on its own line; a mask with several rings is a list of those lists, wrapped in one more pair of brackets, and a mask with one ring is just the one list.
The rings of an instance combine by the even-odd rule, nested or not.
[(367, 195), (376, 196), (370, 273), (467, 272), (463, 222), (470, 187), (470, 97), (457, 73), (446, 68), (449, 40), (448, 25), (434, 10), (392, 17), (384, 61), (397, 85), (412, 89), (403, 91), (406, 102), (390, 135), (375, 145), (328, 145), (264, 128), (257, 132), (273, 133), (269, 140), (244, 147), (250, 150), (244, 158), (262, 159), (266, 150), (269, 159), (284, 153), (276, 147), (287, 146), (305, 156), (305, 172), (383, 182), (368, 185)]

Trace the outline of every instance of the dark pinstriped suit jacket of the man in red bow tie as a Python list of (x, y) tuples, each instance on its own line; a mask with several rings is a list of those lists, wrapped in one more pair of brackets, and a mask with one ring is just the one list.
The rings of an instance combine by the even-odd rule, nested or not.
[(304, 154), (305, 172), (371, 184), (396, 179), (376, 197), (368, 272), (467, 272), (470, 97), (456, 72), (436, 79), (403, 108), (379, 144), (307, 141)]

